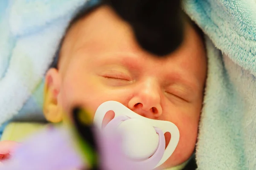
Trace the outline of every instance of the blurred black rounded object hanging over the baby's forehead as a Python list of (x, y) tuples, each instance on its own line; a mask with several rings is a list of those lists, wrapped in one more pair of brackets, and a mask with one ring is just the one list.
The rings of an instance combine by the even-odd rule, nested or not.
[(183, 41), (181, 0), (104, 0), (127, 21), (138, 43), (159, 57), (175, 51)]

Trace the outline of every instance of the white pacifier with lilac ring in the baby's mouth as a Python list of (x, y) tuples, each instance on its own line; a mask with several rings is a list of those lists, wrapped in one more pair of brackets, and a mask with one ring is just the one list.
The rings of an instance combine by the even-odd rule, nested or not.
[[(115, 116), (103, 128), (102, 122), (108, 111), (113, 111)], [(177, 126), (172, 122), (145, 118), (115, 101), (99, 106), (94, 124), (106, 131), (120, 130), (125, 155), (143, 169), (154, 169), (163, 164), (174, 152), (180, 138)], [(166, 132), (171, 133), (167, 147)]]

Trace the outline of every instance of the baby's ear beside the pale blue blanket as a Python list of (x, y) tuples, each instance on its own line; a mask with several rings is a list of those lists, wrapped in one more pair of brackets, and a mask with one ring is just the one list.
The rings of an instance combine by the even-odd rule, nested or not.
[(47, 71), (44, 84), (44, 105), (45, 118), (50, 122), (61, 122), (63, 119), (62, 109), (58, 102), (61, 78), (58, 70), (50, 68)]

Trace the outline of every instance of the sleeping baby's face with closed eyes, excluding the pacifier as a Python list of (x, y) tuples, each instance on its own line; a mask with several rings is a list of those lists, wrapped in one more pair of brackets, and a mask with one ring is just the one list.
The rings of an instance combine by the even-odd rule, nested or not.
[(76, 23), (61, 49), (59, 70), (47, 74), (55, 104), (64, 113), (74, 106), (94, 114), (114, 100), (150, 119), (173, 122), (180, 141), (164, 167), (192, 155), (206, 79), (204, 45), (189, 24), (177, 51), (158, 58), (143, 51), (131, 28), (108, 7), (100, 7)]

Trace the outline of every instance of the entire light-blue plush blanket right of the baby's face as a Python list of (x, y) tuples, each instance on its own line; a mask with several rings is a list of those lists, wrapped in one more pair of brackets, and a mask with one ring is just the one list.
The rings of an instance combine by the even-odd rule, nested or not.
[(209, 36), (198, 169), (256, 170), (256, 1), (185, 0), (184, 9)]

